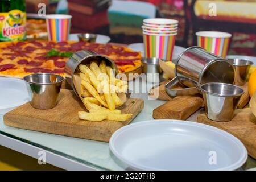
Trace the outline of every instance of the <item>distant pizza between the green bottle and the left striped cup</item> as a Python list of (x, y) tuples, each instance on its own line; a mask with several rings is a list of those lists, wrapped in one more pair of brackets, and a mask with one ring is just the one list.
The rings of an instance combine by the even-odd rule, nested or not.
[(44, 19), (27, 19), (27, 39), (47, 39), (47, 26)]

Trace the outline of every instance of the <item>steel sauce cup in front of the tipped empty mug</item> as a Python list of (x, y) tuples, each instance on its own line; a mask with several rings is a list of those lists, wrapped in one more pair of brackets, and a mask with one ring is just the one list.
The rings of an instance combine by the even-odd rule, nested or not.
[(213, 121), (230, 121), (234, 117), (243, 89), (232, 84), (211, 82), (200, 90), (204, 97), (205, 112)]

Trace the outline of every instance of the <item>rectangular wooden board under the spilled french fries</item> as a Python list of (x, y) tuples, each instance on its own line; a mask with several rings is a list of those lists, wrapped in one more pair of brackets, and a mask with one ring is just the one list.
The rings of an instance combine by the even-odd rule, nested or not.
[(84, 121), (78, 118), (77, 112), (86, 110), (82, 101), (72, 90), (61, 89), (59, 101), (53, 109), (39, 110), (30, 103), (24, 104), (9, 113), (3, 120), (6, 125), (21, 129), (42, 131), (108, 142), (111, 135), (122, 126), (128, 125), (143, 109), (144, 102), (139, 98), (129, 98), (118, 109), (122, 113), (133, 113), (127, 121)]

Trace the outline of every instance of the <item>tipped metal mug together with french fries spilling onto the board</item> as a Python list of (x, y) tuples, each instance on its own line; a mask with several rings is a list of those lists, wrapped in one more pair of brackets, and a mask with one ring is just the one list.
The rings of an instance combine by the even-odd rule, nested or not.
[(115, 78), (118, 69), (114, 61), (92, 51), (79, 51), (69, 58), (66, 78), (86, 110), (79, 118), (86, 121), (126, 121), (132, 114), (118, 107), (127, 100), (127, 81)]

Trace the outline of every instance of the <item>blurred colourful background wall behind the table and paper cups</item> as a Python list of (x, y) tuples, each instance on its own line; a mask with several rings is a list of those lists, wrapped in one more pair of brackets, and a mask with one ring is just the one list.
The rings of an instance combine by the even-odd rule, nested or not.
[[(172, 18), (179, 20), (178, 46), (195, 45), (199, 30), (225, 31), (233, 34), (228, 54), (256, 56), (255, 0), (27, 0), (27, 13), (36, 13), (40, 2), (47, 14), (71, 14), (71, 33), (104, 34), (131, 44), (143, 42), (144, 18)], [(208, 15), (212, 2), (217, 16)]]

